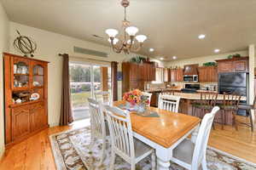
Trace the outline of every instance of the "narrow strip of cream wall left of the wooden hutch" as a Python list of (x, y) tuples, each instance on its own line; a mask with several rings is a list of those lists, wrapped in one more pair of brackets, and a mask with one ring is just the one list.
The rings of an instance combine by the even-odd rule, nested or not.
[(2, 53), (9, 50), (9, 19), (0, 3), (0, 158), (4, 151), (4, 120), (3, 120), (3, 57)]

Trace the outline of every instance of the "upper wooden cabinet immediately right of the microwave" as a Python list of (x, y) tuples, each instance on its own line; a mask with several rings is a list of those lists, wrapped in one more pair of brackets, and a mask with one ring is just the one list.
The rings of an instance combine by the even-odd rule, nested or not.
[(199, 82), (218, 82), (217, 66), (198, 67)]

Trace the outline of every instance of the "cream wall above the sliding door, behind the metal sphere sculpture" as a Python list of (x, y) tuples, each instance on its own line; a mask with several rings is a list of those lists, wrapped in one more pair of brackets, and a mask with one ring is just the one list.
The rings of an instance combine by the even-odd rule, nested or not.
[[(67, 53), (70, 56), (90, 59), (105, 59), (107, 61), (118, 61), (131, 58), (134, 54), (125, 56), (125, 54), (115, 54), (111, 48), (102, 46), (93, 42), (86, 42), (73, 37), (63, 36), (54, 32), (44, 31), (30, 26), (20, 25), (15, 22), (10, 22), (10, 53), (19, 54), (13, 48), (13, 41), (17, 37), (16, 30), (20, 31), (21, 35), (32, 37), (38, 44), (38, 49), (35, 53), (36, 59), (49, 61), (49, 125), (58, 125), (61, 111), (61, 74), (62, 74), (62, 59), (58, 54)], [(108, 58), (101, 58), (85, 54), (74, 54), (73, 46), (81, 48), (94, 49), (109, 54)], [(78, 59), (75, 59), (78, 60)], [(119, 71), (121, 71), (121, 63), (119, 63)], [(121, 82), (118, 83), (119, 98), (121, 97)]]

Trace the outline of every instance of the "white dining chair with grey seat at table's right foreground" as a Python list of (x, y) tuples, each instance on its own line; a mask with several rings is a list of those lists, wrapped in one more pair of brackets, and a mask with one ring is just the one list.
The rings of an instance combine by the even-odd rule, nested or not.
[(198, 170), (199, 167), (207, 170), (207, 143), (214, 116), (218, 111), (219, 107), (215, 106), (211, 113), (203, 117), (195, 144), (190, 139), (184, 139), (173, 150), (171, 161), (189, 170)]

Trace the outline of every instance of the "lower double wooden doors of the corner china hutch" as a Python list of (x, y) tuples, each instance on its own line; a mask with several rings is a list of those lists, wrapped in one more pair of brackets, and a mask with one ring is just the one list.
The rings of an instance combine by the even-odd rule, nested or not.
[(44, 102), (11, 109), (12, 141), (19, 140), (47, 127)]

